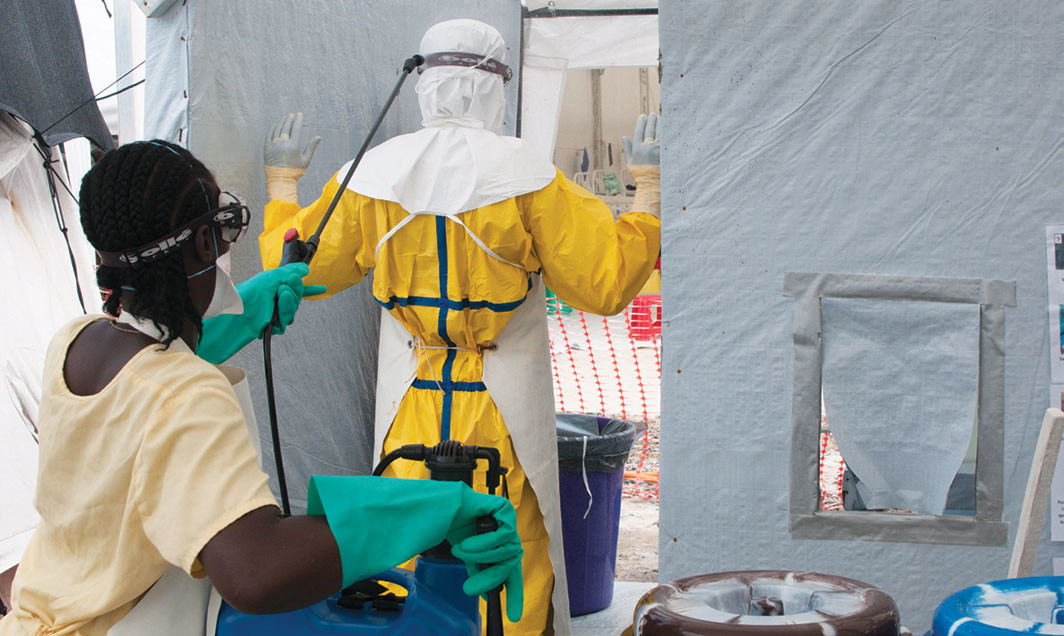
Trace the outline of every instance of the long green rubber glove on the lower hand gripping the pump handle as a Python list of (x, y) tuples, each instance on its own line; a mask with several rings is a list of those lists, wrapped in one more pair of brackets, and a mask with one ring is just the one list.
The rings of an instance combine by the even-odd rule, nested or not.
[[(522, 551), (517, 514), (505, 499), (475, 492), (462, 482), (317, 475), (306, 500), (306, 514), (325, 515), (336, 538), (344, 587), (447, 539), (471, 573), (463, 591), (482, 595), (503, 584), (506, 617), (520, 620)], [(498, 530), (477, 535), (477, 517), (484, 515), (495, 517)]]

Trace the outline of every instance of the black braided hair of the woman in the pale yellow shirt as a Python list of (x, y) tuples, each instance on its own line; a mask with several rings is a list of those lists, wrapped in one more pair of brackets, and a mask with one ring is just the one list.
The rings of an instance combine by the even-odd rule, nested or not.
[[(103, 155), (81, 182), (81, 224), (94, 248), (139, 247), (210, 212), (218, 204), (214, 175), (190, 152), (160, 139), (127, 144)], [(186, 320), (202, 329), (188, 291), (182, 250), (136, 269), (101, 266), (96, 282), (113, 292), (103, 304), (150, 318), (168, 347)], [(121, 290), (132, 295), (121, 304)], [(128, 298), (128, 297), (127, 297)]]

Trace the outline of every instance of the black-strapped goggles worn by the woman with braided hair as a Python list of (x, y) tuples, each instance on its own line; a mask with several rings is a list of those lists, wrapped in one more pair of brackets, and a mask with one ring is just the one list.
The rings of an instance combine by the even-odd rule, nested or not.
[(193, 231), (200, 225), (211, 225), (218, 231), (218, 237), (226, 242), (236, 242), (248, 231), (251, 213), (239, 197), (228, 190), (218, 195), (218, 207), (196, 217), (169, 234), (147, 242), (138, 248), (119, 252), (101, 252), (100, 265), (107, 267), (128, 267), (137, 269), (159, 261), (181, 247), (181, 244), (193, 236)]

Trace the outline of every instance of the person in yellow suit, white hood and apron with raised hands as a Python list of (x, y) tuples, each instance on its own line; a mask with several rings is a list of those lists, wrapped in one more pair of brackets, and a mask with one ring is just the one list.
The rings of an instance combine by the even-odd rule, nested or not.
[[(335, 294), (375, 270), (375, 456), (442, 439), (499, 449), (525, 548), (525, 615), (505, 633), (568, 634), (543, 285), (610, 315), (646, 282), (660, 249), (656, 116), (641, 117), (626, 140), (637, 191), (633, 212), (614, 220), (528, 145), (495, 132), (510, 74), (495, 29), (440, 22), (419, 52), (425, 128), (365, 155), (305, 280)], [(266, 143), (265, 267), (278, 265), (289, 230), (315, 231), (350, 165), (300, 210), (296, 180), (310, 160), (301, 123), (289, 115)], [(393, 466), (393, 475), (427, 476), (420, 465)]]

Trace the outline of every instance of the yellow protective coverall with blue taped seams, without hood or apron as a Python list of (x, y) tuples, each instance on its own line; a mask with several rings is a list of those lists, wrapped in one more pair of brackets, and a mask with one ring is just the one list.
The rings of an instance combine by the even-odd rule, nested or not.
[[(331, 180), (304, 210), (285, 201), (266, 206), (259, 239), (264, 268), (280, 263), (289, 228), (301, 236), (314, 232), (338, 186), (339, 179)], [(397, 203), (345, 191), (304, 281), (326, 285), (332, 295), (376, 269), (373, 298), (422, 345), (417, 378), (399, 406), (384, 451), (456, 439), (502, 452), (526, 543), (525, 620), (539, 610), (535, 621), (545, 624), (550, 583), (544, 581), (551, 572), (546, 546), (541, 549), (536, 542), (546, 535), (537, 504), (529, 505), (535, 493), (525, 487), (505, 423), (481, 383), (478, 348), (499, 336), (525, 300), (528, 272), (542, 271), (544, 283), (579, 309), (604, 315), (624, 309), (653, 269), (661, 222), (641, 212), (614, 221), (603, 202), (561, 172), (542, 190), (459, 215), (493, 251), (520, 264), (520, 271), (496, 261), (460, 225), (438, 216), (415, 217), (375, 255), (381, 237), (406, 216)], [(396, 476), (428, 476), (420, 465), (393, 466)]]

